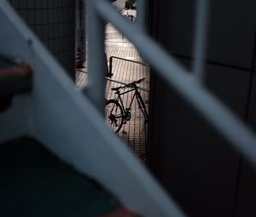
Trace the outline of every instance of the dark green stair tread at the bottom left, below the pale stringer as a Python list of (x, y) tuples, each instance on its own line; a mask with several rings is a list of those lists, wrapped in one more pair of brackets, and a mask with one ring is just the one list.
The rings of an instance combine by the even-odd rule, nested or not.
[(30, 138), (0, 146), (0, 216), (97, 216), (119, 207)]

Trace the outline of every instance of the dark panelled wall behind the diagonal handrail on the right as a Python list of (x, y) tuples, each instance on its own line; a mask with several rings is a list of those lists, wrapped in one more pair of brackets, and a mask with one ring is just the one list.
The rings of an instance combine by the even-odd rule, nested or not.
[[(149, 2), (152, 34), (191, 69), (195, 0)], [(212, 1), (204, 83), (254, 130), (255, 6)], [(255, 216), (255, 169), (160, 77), (153, 77), (150, 96), (150, 166), (177, 203), (189, 216)]]

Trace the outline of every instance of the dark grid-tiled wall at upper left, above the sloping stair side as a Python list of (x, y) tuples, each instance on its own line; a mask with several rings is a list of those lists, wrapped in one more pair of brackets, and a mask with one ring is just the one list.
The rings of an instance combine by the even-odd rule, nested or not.
[(71, 77), (75, 62), (74, 0), (9, 0)]

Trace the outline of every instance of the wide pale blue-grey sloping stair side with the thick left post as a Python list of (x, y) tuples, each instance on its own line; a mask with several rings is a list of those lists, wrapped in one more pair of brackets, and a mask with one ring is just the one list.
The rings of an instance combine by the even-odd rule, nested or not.
[(131, 211), (147, 217), (184, 216), (95, 109), (103, 106), (104, 59), (102, 21), (95, 16), (92, 2), (89, 39), (96, 37), (97, 43), (89, 44), (89, 70), (95, 73), (90, 73), (88, 99), (9, 3), (0, 1), (0, 52), (20, 56), (34, 71), (32, 93), (16, 96), (9, 111), (0, 114), (0, 142), (31, 135), (79, 172), (99, 181)]

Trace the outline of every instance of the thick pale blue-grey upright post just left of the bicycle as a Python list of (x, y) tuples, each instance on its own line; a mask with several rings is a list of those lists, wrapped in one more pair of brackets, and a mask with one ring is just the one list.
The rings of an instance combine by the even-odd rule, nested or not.
[[(86, 94), (96, 107), (103, 111), (105, 91), (104, 25), (95, 9), (96, 0), (84, 0), (87, 14), (88, 37), (88, 84)], [(86, 21), (86, 20), (85, 20)]]

